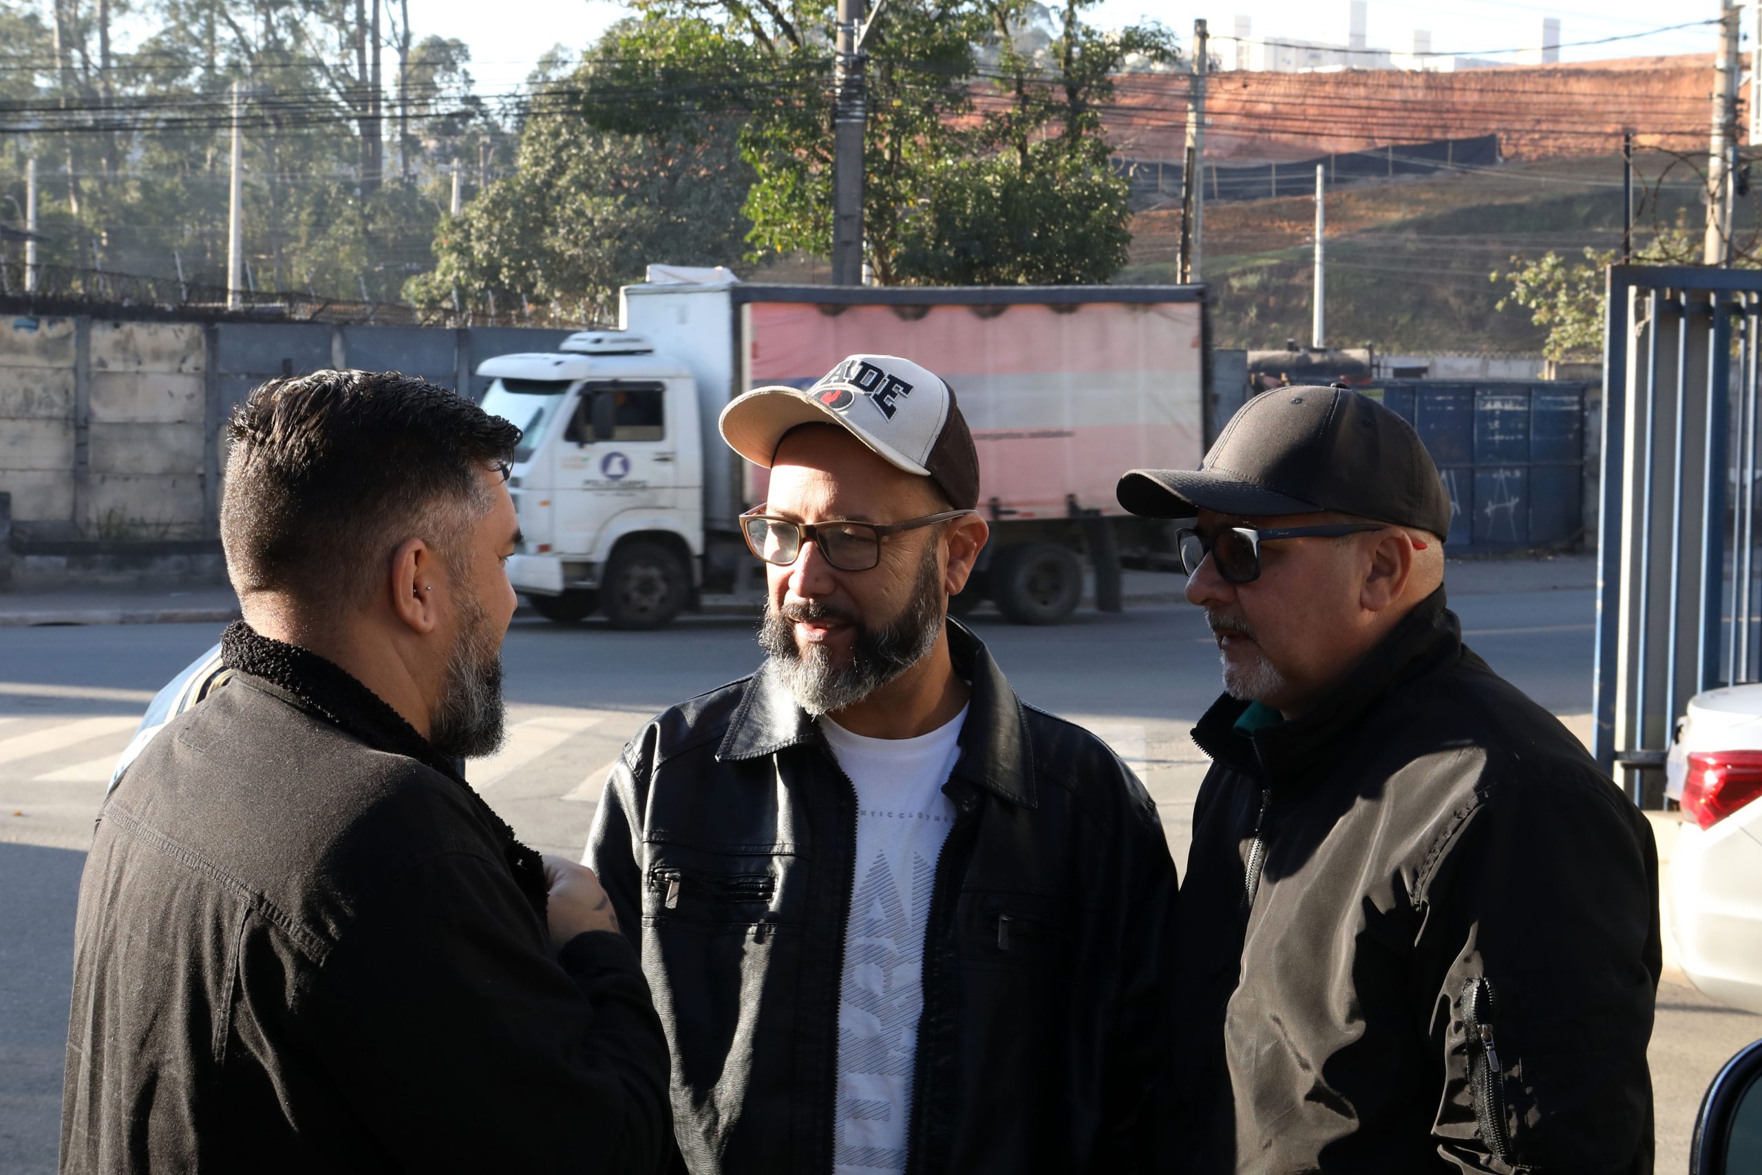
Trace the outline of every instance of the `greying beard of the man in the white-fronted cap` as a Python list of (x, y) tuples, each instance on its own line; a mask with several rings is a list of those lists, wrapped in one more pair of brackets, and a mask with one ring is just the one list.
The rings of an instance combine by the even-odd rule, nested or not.
[[(775, 601), (766, 601), (765, 617), (759, 620), (759, 648), (770, 654), (772, 668), (809, 717), (837, 713), (923, 661), (943, 631), (941, 587), (936, 544), (930, 543), (906, 606), (886, 624), (870, 627), (862, 617), (814, 601), (786, 604), (781, 610)], [(835, 666), (825, 645), (811, 645), (802, 652), (795, 643), (798, 620), (835, 620), (851, 625), (851, 659)]]

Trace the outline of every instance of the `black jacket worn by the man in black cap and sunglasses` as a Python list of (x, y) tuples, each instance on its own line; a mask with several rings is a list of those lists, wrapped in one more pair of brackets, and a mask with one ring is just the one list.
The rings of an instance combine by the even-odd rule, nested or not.
[(1651, 828), (1443, 588), (1316, 710), (1239, 726), (1181, 895), (1195, 1171), (1651, 1171)]

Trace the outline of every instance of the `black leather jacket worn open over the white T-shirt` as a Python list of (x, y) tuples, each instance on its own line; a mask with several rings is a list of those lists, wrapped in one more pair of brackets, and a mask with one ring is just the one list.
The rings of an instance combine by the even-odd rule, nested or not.
[[(1175, 867), (1094, 735), (1022, 705), (950, 622), (973, 684), (944, 786), (911, 1171), (1168, 1170)], [(768, 671), (673, 706), (611, 773), (589, 863), (673, 1048), (684, 1168), (826, 1173), (855, 789)]]

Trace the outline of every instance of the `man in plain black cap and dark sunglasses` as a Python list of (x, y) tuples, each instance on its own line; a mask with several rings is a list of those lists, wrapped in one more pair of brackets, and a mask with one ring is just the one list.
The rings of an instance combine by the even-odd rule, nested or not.
[(1179, 909), (1193, 1171), (1651, 1171), (1651, 830), (1445, 608), (1418, 435), (1279, 388), (1121, 504), (1179, 532), (1225, 696)]

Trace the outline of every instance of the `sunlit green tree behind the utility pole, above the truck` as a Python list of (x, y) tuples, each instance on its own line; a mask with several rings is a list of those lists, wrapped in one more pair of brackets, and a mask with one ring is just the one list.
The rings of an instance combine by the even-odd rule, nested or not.
[[(1124, 180), (1101, 109), (1126, 62), (1170, 63), (1159, 26), (1105, 35), (1066, 0), (895, 0), (870, 32), (863, 255), (881, 284), (1098, 282), (1126, 259)], [(835, 7), (641, 0), (596, 78), (601, 125), (670, 109), (742, 116), (754, 259), (832, 245)], [(661, 113), (654, 99), (663, 97)]]

